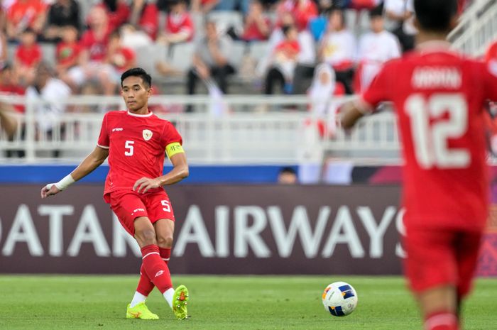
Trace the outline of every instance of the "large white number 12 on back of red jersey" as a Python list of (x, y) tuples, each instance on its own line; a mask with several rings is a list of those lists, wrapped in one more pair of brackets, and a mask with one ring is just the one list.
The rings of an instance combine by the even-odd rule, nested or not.
[[(430, 97), (413, 94), (405, 101), (404, 109), (410, 117), (415, 156), (420, 167), (469, 166), (469, 150), (447, 145), (449, 138), (461, 138), (468, 130), (468, 105), (463, 94), (439, 93)], [(448, 119), (440, 119), (446, 112)]]

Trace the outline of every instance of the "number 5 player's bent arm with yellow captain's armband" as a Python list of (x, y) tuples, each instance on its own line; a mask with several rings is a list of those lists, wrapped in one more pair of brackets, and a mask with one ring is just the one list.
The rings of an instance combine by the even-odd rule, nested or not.
[(165, 152), (168, 154), (168, 158), (173, 164), (173, 170), (166, 173), (163, 176), (155, 177), (151, 179), (149, 177), (142, 177), (135, 182), (133, 190), (138, 193), (146, 193), (149, 189), (162, 187), (165, 185), (173, 185), (176, 182), (188, 177), (190, 174), (188, 170), (188, 163), (181, 144), (179, 142), (173, 142), (168, 144), (165, 148)]

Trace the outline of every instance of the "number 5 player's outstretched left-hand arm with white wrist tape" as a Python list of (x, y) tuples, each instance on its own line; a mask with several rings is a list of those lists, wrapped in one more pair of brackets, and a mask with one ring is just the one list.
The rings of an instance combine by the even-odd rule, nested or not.
[(109, 149), (102, 147), (95, 147), (95, 149), (87, 155), (86, 158), (75, 168), (69, 175), (66, 175), (62, 180), (57, 183), (49, 183), (41, 189), (41, 198), (49, 197), (58, 194), (62, 190), (72, 185), (77, 180), (89, 175), (94, 169), (102, 165), (104, 160), (109, 155)]

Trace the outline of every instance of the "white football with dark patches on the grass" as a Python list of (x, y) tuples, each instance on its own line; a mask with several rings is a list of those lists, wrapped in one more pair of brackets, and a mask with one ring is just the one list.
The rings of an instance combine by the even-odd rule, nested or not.
[(334, 317), (346, 317), (357, 307), (357, 292), (346, 282), (334, 282), (324, 289), (323, 305)]

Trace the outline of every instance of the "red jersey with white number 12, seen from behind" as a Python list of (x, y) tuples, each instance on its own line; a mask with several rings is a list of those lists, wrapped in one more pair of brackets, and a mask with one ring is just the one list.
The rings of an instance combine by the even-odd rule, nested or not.
[(425, 43), (387, 62), (362, 98), (395, 106), (406, 225), (480, 230), (489, 194), (483, 109), (497, 99), (497, 67)]

